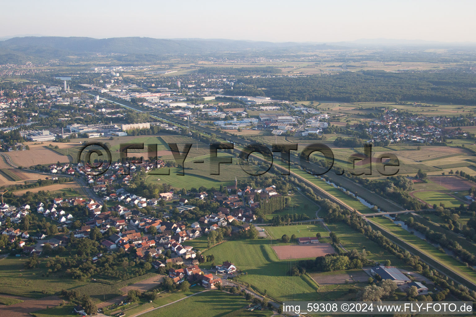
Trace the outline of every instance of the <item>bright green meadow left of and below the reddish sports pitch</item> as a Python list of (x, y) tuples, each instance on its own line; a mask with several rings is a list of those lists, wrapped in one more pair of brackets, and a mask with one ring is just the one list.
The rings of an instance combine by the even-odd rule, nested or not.
[[(297, 261), (279, 260), (268, 239), (227, 241), (204, 254), (213, 254), (217, 264), (231, 261), (238, 269), (248, 273), (241, 276), (239, 281), (249, 283), (260, 292), (266, 289), (272, 298), (281, 301), (316, 299), (316, 291), (308, 281), (298, 276), (289, 276), (290, 266)], [(209, 268), (211, 263), (202, 266)]]

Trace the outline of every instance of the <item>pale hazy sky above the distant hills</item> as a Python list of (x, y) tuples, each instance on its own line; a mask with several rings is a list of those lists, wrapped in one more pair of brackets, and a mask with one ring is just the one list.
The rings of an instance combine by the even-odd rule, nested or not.
[(476, 42), (475, 0), (1, 0), (0, 8), (0, 37)]

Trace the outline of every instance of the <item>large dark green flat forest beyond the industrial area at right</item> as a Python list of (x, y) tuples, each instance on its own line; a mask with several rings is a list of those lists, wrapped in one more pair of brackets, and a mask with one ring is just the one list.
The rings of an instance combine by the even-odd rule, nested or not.
[[(445, 71), (343, 72), (307, 77), (240, 78), (227, 95), (268, 96), (289, 101), (374, 102), (401, 100), (473, 105), (476, 74)], [(264, 89), (264, 90), (263, 90)]]

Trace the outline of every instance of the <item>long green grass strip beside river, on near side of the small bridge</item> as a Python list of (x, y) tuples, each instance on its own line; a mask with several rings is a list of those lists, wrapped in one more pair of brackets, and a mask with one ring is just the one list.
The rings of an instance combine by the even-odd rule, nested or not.
[(406, 241), (407, 243), (412, 244), (415, 248), (425, 253), (427, 256), (431, 257), (432, 259), (435, 259), (446, 267), (451, 268), (453, 271), (466, 277), (466, 279), (471, 280), (473, 283), (476, 282), (476, 273), (473, 270), (459, 263), (458, 261), (456, 261), (456, 259), (453, 259), (445, 252), (436, 249), (433, 245), (429, 244), (425, 240), (422, 240), (416, 235), (406, 231), (405, 229), (398, 227), (390, 219), (387, 219), (385, 217), (376, 217), (370, 218), (369, 220), (385, 227), (387, 231), (391, 232), (396, 237)]

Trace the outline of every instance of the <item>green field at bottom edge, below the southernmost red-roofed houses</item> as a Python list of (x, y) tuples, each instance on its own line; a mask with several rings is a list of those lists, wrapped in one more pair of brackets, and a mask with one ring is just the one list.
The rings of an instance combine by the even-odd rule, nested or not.
[[(194, 316), (194, 317), (214, 317), (214, 316), (257, 316), (265, 317), (271, 316), (271, 311), (253, 312), (248, 315), (243, 313), (240, 309), (249, 305), (250, 302), (246, 301), (244, 297), (238, 295), (227, 294), (218, 290), (210, 290), (204, 293), (194, 295), (192, 297), (183, 299), (175, 304), (162, 307), (160, 309), (151, 311), (142, 317), (156, 317), (156, 316), (168, 316), (168, 317), (182, 317), (182, 316)], [(239, 315), (233, 314), (237, 312)]]

